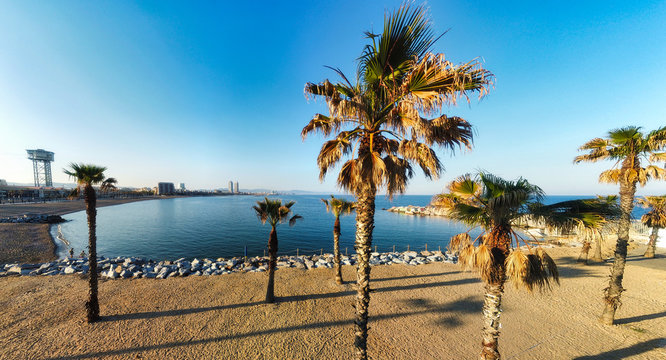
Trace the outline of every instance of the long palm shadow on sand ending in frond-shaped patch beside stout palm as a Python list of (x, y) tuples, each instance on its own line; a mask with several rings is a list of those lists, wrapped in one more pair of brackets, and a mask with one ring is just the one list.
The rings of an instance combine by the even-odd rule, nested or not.
[[(444, 316), (449, 316), (449, 317), (445, 317), (444, 320), (441, 322), (441, 324), (446, 325), (448, 327), (454, 327), (454, 326), (460, 326), (462, 324), (462, 322), (457, 320), (457, 319), (454, 319), (452, 321), (446, 320), (446, 319), (450, 319), (450, 314), (451, 313), (458, 312), (458, 311), (461, 311), (461, 310), (463, 310), (465, 312), (480, 312), (479, 309), (481, 309), (481, 306), (482, 306), (482, 303), (481, 303), (480, 300), (472, 299), (472, 297), (452, 301), (452, 302), (449, 302), (449, 303), (446, 303), (446, 304), (443, 304), (443, 305), (432, 305), (428, 302), (419, 303), (418, 301), (415, 302), (415, 304), (416, 304), (417, 307), (420, 307), (420, 308), (416, 309), (416, 310), (405, 311), (405, 312), (400, 312), (400, 313), (373, 315), (373, 316), (370, 317), (370, 324), (372, 324), (374, 322), (377, 322), (377, 321), (390, 320), (390, 319), (399, 319), (399, 318), (405, 318), (405, 317), (415, 316), (415, 315), (441, 314), (441, 315), (444, 315)], [(174, 311), (178, 311), (178, 310), (174, 310)], [(247, 333), (218, 336), (218, 337), (207, 338), (207, 339), (193, 339), (193, 338), (191, 338), (188, 341), (175, 341), (175, 342), (169, 342), (169, 343), (164, 343), (164, 344), (154, 344), (154, 345), (146, 345), (146, 346), (137, 346), (137, 347), (127, 348), (127, 349), (99, 351), (99, 352), (88, 353), (88, 354), (66, 355), (66, 356), (52, 357), (52, 358), (48, 358), (46, 360), (95, 359), (95, 358), (101, 358), (101, 357), (106, 357), (106, 356), (126, 356), (128, 354), (132, 354), (132, 353), (136, 353), (136, 352), (144, 352), (144, 351), (160, 350), (160, 349), (169, 349), (169, 348), (176, 348), (176, 347), (181, 347), (181, 346), (193, 346), (193, 345), (201, 345), (201, 344), (209, 344), (209, 343), (219, 343), (219, 342), (223, 342), (223, 341), (226, 341), (226, 340), (242, 339), (242, 338), (257, 337), (257, 336), (265, 336), (265, 335), (285, 333), (285, 332), (298, 331), (298, 330), (311, 330), (311, 329), (320, 329), (320, 328), (351, 326), (353, 324), (353, 321), (354, 321), (353, 318), (349, 318), (349, 319), (337, 320), (337, 321), (325, 321), (325, 322), (319, 322), (319, 323), (308, 323), (308, 324), (302, 324), (302, 325), (296, 325), (296, 326), (285, 326), (285, 327), (268, 329), (268, 330), (250, 331), (250, 332), (247, 332)]]

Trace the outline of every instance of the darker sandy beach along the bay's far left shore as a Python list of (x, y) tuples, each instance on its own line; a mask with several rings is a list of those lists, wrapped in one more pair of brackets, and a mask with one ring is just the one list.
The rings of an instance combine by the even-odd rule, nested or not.
[[(97, 207), (153, 200), (159, 197), (136, 199), (100, 199)], [(83, 200), (47, 203), (1, 204), (0, 218), (32, 215), (64, 215), (86, 209)], [(48, 224), (0, 224), (0, 264), (37, 263), (56, 258), (56, 247)]]

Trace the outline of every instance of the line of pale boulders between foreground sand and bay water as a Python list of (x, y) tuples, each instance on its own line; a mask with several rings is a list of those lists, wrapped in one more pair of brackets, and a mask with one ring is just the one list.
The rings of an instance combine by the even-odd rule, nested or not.
[[(403, 253), (372, 253), (371, 265), (422, 265), (431, 262), (455, 263), (457, 257), (439, 251), (429, 252), (406, 251)], [(341, 256), (343, 265), (354, 265), (356, 255)], [(178, 259), (176, 261), (155, 262), (142, 258), (117, 257), (113, 259), (99, 258), (98, 269), (103, 278), (129, 279), (129, 278), (155, 278), (166, 279), (177, 276), (210, 276), (224, 275), (237, 272), (263, 272), (268, 270), (267, 257), (231, 258), (217, 260), (194, 259), (188, 261)], [(277, 268), (332, 268), (334, 266), (333, 254), (312, 256), (279, 256)], [(3, 276), (49, 276), (87, 274), (90, 270), (86, 258), (65, 258), (58, 261), (43, 264), (6, 264), (0, 265), (0, 277)]]

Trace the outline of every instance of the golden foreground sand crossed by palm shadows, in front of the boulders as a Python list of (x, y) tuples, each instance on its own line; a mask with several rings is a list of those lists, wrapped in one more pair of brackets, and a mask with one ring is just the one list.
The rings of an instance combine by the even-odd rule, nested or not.
[[(507, 286), (504, 359), (666, 358), (664, 249), (658, 259), (630, 256), (615, 326), (597, 322), (608, 265), (577, 265), (578, 249), (549, 252), (561, 286), (533, 295)], [(345, 279), (353, 271), (344, 267)], [(0, 278), (0, 359), (352, 358), (353, 284), (336, 285), (333, 269), (282, 269), (269, 305), (266, 278), (104, 281), (96, 324), (84, 321), (78, 276)], [(483, 286), (474, 274), (434, 263), (377, 266), (372, 278), (373, 359), (477, 357)]]

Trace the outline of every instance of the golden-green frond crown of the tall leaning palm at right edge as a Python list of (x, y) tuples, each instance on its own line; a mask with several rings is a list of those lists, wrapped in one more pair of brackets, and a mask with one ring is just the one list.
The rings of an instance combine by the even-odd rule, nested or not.
[[(666, 170), (653, 165), (656, 161), (666, 161), (666, 126), (643, 134), (640, 127), (627, 126), (608, 132), (605, 139), (596, 138), (588, 141), (579, 148), (589, 153), (576, 156), (574, 163), (597, 162), (600, 160), (615, 160), (612, 169), (599, 175), (599, 182), (619, 183), (626, 180), (629, 183), (638, 182), (641, 186), (650, 179), (666, 179)], [(618, 165), (628, 160), (623, 171)], [(641, 167), (641, 159), (649, 164)]]

